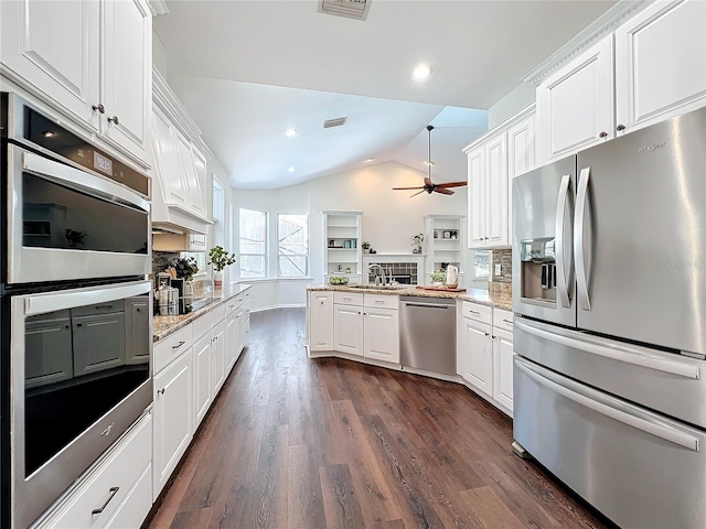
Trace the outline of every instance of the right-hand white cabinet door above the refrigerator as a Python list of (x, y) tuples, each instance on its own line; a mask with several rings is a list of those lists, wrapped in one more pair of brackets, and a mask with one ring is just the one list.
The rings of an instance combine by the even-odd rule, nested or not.
[(656, 2), (616, 30), (619, 133), (706, 104), (706, 2)]

